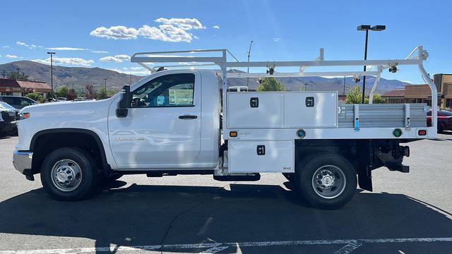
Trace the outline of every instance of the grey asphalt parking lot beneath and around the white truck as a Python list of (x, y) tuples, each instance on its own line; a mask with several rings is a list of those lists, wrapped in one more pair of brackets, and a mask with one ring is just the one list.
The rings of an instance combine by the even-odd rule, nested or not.
[(299, 202), (279, 174), (124, 176), (59, 202), (13, 169), (16, 140), (0, 138), (0, 254), (452, 253), (452, 133), (411, 143), (410, 174), (377, 169), (373, 193), (333, 211)]

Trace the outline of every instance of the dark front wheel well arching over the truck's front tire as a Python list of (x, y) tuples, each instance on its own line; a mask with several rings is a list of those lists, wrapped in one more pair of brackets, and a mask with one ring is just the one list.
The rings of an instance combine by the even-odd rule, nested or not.
[(97, 164), (97, 171), (102, 171), (107, 167), (105, 150), (100, 140), (95, 134), (89, 132), (49, 132), (37, 133), (31, 143), (30, 150), (33, 151), (32, 173), (41, 171), (42, 162), (45, 157), (54, 150), (61, 147), (78, 147), (85, 150), (93, 157)]

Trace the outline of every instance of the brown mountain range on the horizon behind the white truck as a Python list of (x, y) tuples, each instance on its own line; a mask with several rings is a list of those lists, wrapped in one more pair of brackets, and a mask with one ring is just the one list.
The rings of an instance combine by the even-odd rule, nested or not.
[[(11, 73), (19, 71), (29, 75), (29, 80), (44, 81), (50, 84), (50, 66), (33, 61), (15, 61), (11, 63), (4, 63), (0, 65), (1, 73)], [(234, 70), (235, 72), (241, 72)], [(69, 88), (74, 87), (76, 90), (83, 89), (83, 86), (90, 82), (95, 83), (95, 87), (103, 87), (105, 84), (104, 78), (107, 78), (107, 87), (109, 90), (119, 90), (122, 85), (131, 84), (143, 78), (138, 75), (129, 75), (126, 73), (119, 73), (104, 68), (85, 68), (85, 67), (65, 67), (54, 66), (54, 88), (66, 84)], [(362, 86), (362, 77), (359, 83), (355, 83), (352, 77), (345, 78), (323, 78), (323, 77), (296, 77), (296, 78), (276, 78), (283, 83), (285, 90), (333, 90), (338, 91), (339, 95), (343, 94), (354, 85)], [(374, 77), (367, 77), (366, 92), (369, 94), (372, 85), (374, 84)], [(246, 78), (230, 78), (228, 85), (246, 85)], [(250, 90), (255, 90), (258, 85), (256, 78), (249, 78), (248, 87)], [(377, 92), (383, 93), (394, 90), (396, 88), (405, 87), (409, 83), (400, 80), (386, 80), (381, 78)], [(344, 88), (345, 87), (345, 88)]]

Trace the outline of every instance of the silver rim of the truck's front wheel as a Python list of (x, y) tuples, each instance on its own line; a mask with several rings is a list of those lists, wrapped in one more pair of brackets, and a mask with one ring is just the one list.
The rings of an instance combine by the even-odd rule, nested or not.
[(73, 191), (81, 181), (81, 168), (71, 159), (61, 159), (52, 167), (52, 183), (60, 191)]

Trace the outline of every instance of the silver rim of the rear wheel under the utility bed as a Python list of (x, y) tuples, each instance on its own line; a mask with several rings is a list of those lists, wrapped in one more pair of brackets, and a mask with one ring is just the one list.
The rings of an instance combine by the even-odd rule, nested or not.
[(337, 198), (344, 192), (345, 184), (344, 172), (333, 165), (319, 167), (312, 176), (312, 188), (321, 198)]

